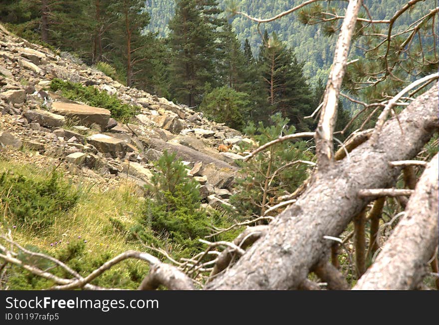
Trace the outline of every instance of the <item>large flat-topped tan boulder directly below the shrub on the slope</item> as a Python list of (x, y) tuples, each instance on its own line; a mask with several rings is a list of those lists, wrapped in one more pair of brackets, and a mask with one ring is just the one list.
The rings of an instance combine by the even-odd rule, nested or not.
[(111, 115), (111, 112), (105, 108), (61, 102), (54, 102), (52, 111), (77, 122), (75, 124), (90, 126), (95, 123), (100, 125), (102, 129), (107, 127)]

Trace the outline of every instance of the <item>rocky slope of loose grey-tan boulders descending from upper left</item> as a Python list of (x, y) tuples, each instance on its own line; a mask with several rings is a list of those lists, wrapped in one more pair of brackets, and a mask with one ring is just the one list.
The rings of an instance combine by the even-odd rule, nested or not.
[[(123, 103), (141, 108), (129, 123), (110, 111), (62, 98), (48, 91), (53, 78), (115, 94)], [(212, 206), (226, 203), (242, 159), (239, 143), (252, 143), (238, 131), (209, 121), (202, 113), (164, 98), (129, 88), (82, 64), (68, 53), (16, 37), (0, 25), (0, 143), (14, 149), (16, 159), (62, 165), (68, 174), (96, 182), (131, 178), (143, 186), (151, 178), (152, 161), (166, 149), (188, 167)], [(219, 152), (220, 144), (233, 144)], [(240, 153), (241, 155), (239, 155)], [(26, 158), (27, 157), (27, 158)]]

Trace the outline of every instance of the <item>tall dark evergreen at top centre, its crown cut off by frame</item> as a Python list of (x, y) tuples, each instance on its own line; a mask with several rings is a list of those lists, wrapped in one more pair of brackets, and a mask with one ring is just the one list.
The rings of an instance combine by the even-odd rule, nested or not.
[(169, 22), (171, 90), (178, 102), (190, 107), (201, 102), (206, 84), (217, 84), (217, 21), (210, 18), (211, 4), (215, 2), (177, 0), (175, 16)]

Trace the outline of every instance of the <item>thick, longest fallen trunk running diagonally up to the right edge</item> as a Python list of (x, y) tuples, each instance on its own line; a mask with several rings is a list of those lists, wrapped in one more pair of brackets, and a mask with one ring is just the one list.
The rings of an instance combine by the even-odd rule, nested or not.
[(206, 289), (297, 289), (326, 258), (333, 242), (368, 203), (358, 191), (388, 188), (438, 128), (438, 84), (388, 120), (376, 144), (368, 140), (327, 172), (317, 171), (297, 202), (270, 222), (267, 233)]

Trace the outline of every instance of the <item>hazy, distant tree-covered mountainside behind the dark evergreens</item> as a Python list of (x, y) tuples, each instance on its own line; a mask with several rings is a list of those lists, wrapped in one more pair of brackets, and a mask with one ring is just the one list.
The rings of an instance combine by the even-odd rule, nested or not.
[[(228, 0), (219, 0), (219, 6), (222, 9), (227, 8)], [(269, 18), (285, 10), (293, 8), (295, 5), (302, 3), (298, 0), (238, 0), (235, 1), (237, 9), (256, 18)], [(365, 0), (365, 5), (369, 8), (374, 19), (389, 19), (395, 14), (396, 8), (407, 3), (407, 0)], [(324, 5), (324, 4), (322, 4)], [(159, 32), (165, 36), (169, 33), (167, 27), (168, 21), (174, 15), (174, 1), (169, 0), (146, 0), (146, 10), (151, 14), (151, 22), (147, 30)], [(343, 6), (347, 7), (345, 1), (332, 1), (330, 7)], [(432, 1), (421, 1), (416, 4), (413, 10), (405, 12), (398, 20), (395, 30), (400, 26), (408, 26), (409, 23), (422, 17), (424, 12), (434, 7)], [(363, 14), (366, 16), (366, 14)], [(242, 16), (235, 15), (229, 19), (241, 43), (247, 38), (250, 42), (254, 53), (259, 52), (261, 36), (257, 31), (257, 23)], [(335, 38), (324, 37), (324, 28), (322, 24), (304, 25), (298, 18), (297, 11), (284, 16), (270, 23), (263, 23), (260, 26), (261, 31), (267, 30), (269, 33), (275, 31), (279, 38), (286, 41), (287, 45), (294, 49), (297, 59), (304, 63), (304, 75), (310, 79), (310, 83), (316, 85), (317, 81), (327, 78), (329, 67), (332, 63)]]

